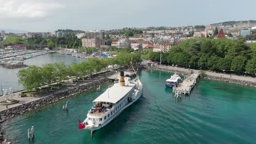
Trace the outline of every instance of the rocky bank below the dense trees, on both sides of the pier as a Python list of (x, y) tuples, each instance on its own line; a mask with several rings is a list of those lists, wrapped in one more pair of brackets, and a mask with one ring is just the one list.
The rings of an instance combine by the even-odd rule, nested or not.
[[(166, 71), (166, 72), (170, 72), (170, 73), (179, 73), (179, 74), (182, 74), (183, 76), (188, 75), (190, 73), (189, 70), (182, 71), (182, 70), (168, 69), (168, 68), (164, 68), (164, 67), (144, 67), (144, 68), (152, 69), (152, 70)], [(207, 74), (206, 74), (205, 78), (210, 79), (210, 80), (221, 81), (221, 82), (236, 83), (238, 85), (244, 85), (244, 86), (249, 86), (249, 87), (256, 87), (256, 82), (251, 82), (251, 81), (229, 79), (226, 77), (212, 76), (212, 75), (207, 75)]]

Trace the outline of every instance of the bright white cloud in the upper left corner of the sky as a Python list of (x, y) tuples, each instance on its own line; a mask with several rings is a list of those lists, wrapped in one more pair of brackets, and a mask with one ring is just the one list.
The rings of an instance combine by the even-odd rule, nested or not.
[(53, 14), (53, 10), (65, 8), (56, 2), (37, 0), (0, 0), (0, 18), (42, 19)]

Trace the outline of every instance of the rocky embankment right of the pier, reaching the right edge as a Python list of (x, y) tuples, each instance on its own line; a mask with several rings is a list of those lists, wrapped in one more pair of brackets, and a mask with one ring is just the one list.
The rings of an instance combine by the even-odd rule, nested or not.
[(206, 75), (205, 78), (206, 79), (210, 79), (210, 80), (222, 81), (222, 82), (236, 83), (238, 85), (245, 85), (245, 86), (250, 86), (250, 87), (256, 87), (256, 83), (255, 82), (251, 82), (251, 81), (229, 79), (229, 78), (226, 78), (226, 77), (219, 77), (219, 76), (212, 76), (212, 75)]

